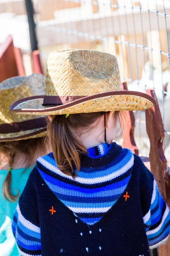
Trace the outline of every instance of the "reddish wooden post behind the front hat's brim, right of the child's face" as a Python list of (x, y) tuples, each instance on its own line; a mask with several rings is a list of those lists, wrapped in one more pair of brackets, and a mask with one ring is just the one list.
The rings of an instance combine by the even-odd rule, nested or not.
[[(122, 90), (128, 90), (126, 82), (122, 83)], [(133, 153), (139, 155), (139, 151), (134, 140), (135, 117), (133, 111), (126, 111), (121, 125), (123, 127), (123, 148), (129, 148)]]

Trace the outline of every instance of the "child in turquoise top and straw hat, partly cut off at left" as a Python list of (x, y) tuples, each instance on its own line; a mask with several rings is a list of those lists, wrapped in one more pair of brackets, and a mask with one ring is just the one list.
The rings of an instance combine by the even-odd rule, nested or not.
[(16, 115), (11, 102), (38, 95), (45, 89), (45, 77), (34, 74), (12, 77), (0, 84), (0, 255), (17, 256), (19, 251), (11, 222), (19, 195), (38, 156), (47, 153), (45, 117)]

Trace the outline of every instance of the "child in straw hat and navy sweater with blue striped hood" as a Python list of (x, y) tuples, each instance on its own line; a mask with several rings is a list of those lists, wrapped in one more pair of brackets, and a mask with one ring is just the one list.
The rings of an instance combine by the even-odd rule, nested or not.
[(122, 91), (116, 57), (68, 49), (48, 58), (44, 97), (11, 106), (48, 115), (53, 153), (39, 157), (14, 213), (20, 254), (149, 256), (170, 233), (170, 211), (140, 158), (112, 143), (120, 111), (155, 100)]

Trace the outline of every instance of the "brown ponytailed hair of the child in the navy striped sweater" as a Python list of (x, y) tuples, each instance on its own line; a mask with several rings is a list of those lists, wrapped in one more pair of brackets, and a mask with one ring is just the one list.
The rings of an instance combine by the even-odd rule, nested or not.
[[(70, 114), (67, 118), (65, 115), (53, 117), (48, 124), (48, 134), (54, 158), (61, 172), (72, 177), (77, 175), (80, 170), (81, 154), (87, 154), (87, 149), (74, 131), (77, 128), (88, 131), (88, 129), (96, 125), (97, 120), (105, 113), (107, 123), (109, 112)], [(114, 112), (115, 127), (117, 120), (120, 118), (119, 113), (119, 111)], [(74, 172), (74, 166), (77, 169), (77, 173)]]

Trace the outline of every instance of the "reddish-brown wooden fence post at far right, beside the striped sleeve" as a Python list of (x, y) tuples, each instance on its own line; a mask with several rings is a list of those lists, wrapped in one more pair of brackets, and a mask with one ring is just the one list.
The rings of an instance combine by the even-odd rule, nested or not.
[[(147, 94), (158, 102), (153, 89), (147, 90)], [(156, 177), (161, 195), (170, 207), (170, 176), (163, 150), (164, 125), (158, 103), (153, 108), (146, 110), (146, 129), (150, 139), (151, 172)], [(158, 250), (159, 256), (170, 256), (170, 239), (159, 246)]]

